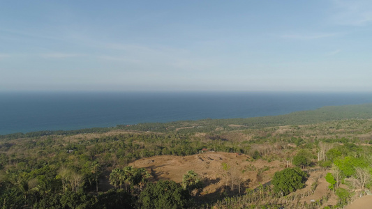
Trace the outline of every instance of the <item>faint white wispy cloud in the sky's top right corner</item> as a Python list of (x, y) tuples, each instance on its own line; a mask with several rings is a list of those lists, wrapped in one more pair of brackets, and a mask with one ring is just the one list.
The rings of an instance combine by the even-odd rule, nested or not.
[(372, 1), (334, 0), (338, 12), (332, 22), (349, 26), (366, 26), (372, 23)]

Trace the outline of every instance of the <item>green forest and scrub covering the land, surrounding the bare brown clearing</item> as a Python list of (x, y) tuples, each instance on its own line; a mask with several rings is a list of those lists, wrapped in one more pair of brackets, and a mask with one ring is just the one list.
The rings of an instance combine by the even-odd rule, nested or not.
[[(337, 203), (327, 207), (342, 208), (371, 187), (371, 118), (372, 104), (362, 104), (283, 116), (2, 135), (0, 207), (322, 208), (336, 195)], [(291, 166), (277, 171), (271, 185), (239, 193), (226, 189), (206, 200), (200, 191), (207, 180), (198, 173), (188, 171), (182, 183), (175, 183), (128, 165), (144, 157), (195, 155), (203, 149)], [(221, 167), (226, 180), (232, 179), (229, 165)], [(299, 168), (325, 169), (329, 193), (312, 204), (299, 203), (302, 196), (294, 192), (308, 178)], [(288, 176), (293, 181), (285, 182)], [(103, 181), (107, 186), (98, 187)]]

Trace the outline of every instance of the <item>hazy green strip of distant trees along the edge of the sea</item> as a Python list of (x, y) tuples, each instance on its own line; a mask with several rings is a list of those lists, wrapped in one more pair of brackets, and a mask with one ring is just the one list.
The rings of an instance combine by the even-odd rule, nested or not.
[[(144, 132), (213, 132), (218, 127), (223, 130), (259, 129), (278, 125), (306, 125), (341, 119), (372, 118), (372, 104), (329, 106), (310, 111), (296, 111), (281, 116), (255, 118), (203, 119), (199, 121), (175, 121), (170, 123), (138, 123), (137, 125), (117, 125), (116, 127), (93, 127), (81, 130), (39, 131), (0, 135), (0, 139), (19, 139), (47, 135), (73, 135), (103, 133), (111, 130), (137, 130)], [(232, 126), (234, 125), (234, 126)]]

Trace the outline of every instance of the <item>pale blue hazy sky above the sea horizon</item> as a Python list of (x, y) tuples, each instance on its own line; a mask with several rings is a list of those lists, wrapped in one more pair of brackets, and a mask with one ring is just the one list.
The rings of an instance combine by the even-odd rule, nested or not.
[(372, 1), (0, 1), (0, 91), (371, 91)]

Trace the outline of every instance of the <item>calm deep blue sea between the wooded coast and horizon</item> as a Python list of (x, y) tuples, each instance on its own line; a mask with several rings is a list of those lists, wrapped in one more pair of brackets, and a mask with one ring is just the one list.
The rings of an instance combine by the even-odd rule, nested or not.
[(0, 134), (274, 116), (372, 102), (372, 93), (0, 93)]

